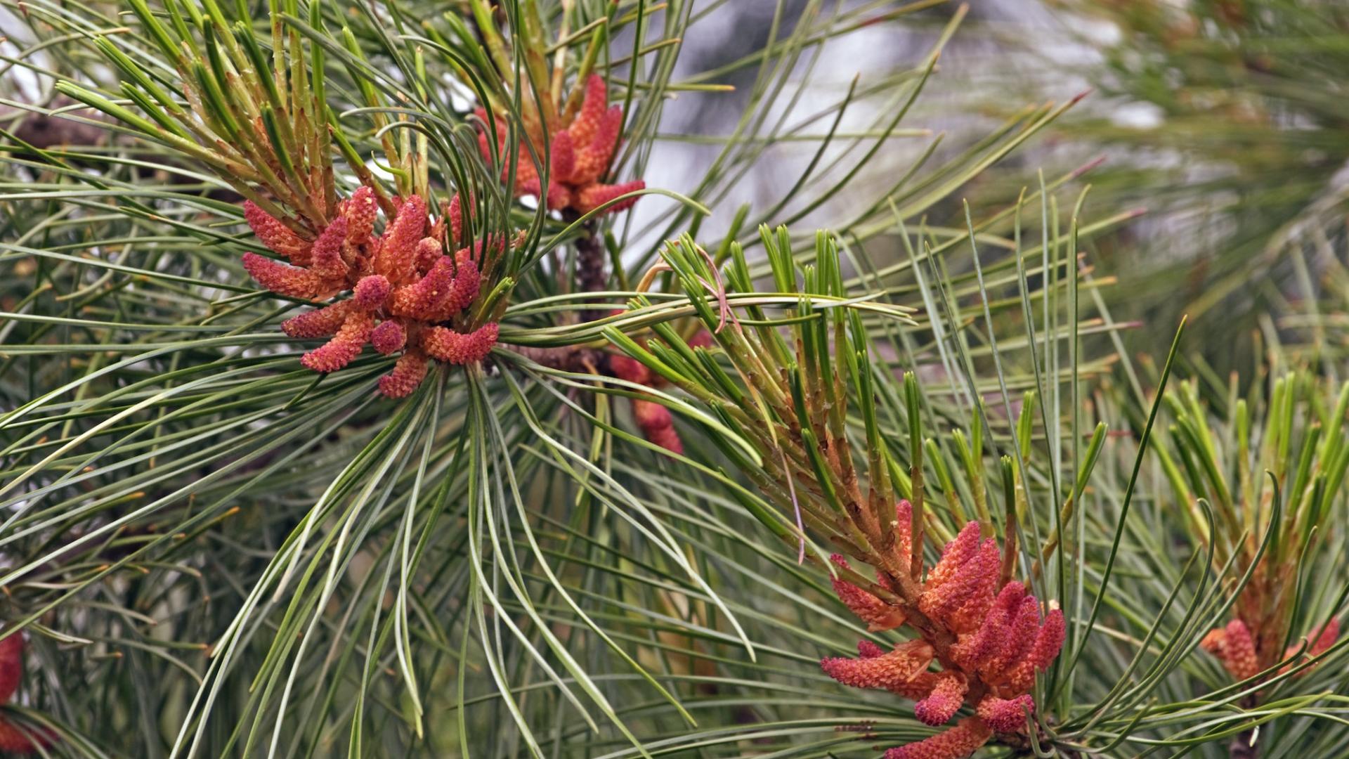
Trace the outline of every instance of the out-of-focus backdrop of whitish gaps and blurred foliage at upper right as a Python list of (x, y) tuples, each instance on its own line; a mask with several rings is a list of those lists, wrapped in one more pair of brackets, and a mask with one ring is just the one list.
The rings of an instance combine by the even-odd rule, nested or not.
[[(823, 113), (855, 76), (912, 66), (959, 7), (938, 3), (832, 41), (797, 63), (796, 76), (807, 81), (800, 101), (784, 99), (776, 109)], [(812, 12), (828, 11), (805, 0), (715, 7), (700, 24), (708, 32), (688, 39), (681, 74), (737, 89), (688, 93), (696, 108), (669, 111), (649, 182), (684, 188), (716, 161), (718, 140), (735, 130), (755, 76), (753, 66), (722, 66)], [(1159, 350), (1188, 313), (1202, 335), (1193, 347), (1209, 365), (1201, 369), (1224, 382), (1269, 350), (1300, 351), (1314, 362), (1338, 355), (1344, 324), (1325, 313), (1344, 304), (1349, 285), (1346, 27), (1345, 4), (1315, 0), (969, 3), (934, 81), (904, 120), (927, 131), (896, 134), (862, 166), (863, 181), (805, 213), (804, 223), (838, 227), (854, 197), (893, 182), (934, 142), (940, 145), (929, 163), (965, 150), (1028, 104), (1086, 93), (952, 197), (1004, 207), (1040, 170), (1054, 177), (1099, 159), (1083, 180), (1091, 185), (1087, 213), (1143, 212), (1086, 246), (1095, 271), (1118, 278), (1102, 293), (1120, 320), (1135, 323), (1124, 334), (1130, 351)], [(804, 136), (827, 132), (827, 120), (803, 126), (803, 139), (772, 145), (708, 227), (724, 228), (739, 203), (776, 205), (812, 161), (828, 166), (846, 149), (842, 135), (863, 135), (884, 122), (886, 107), (884, 95), (859, 99), (822, 158), (819, 142)], [(634, 221), (660, 211), (654, 203), (641, 205)], [(959, 216), (956, 204), (939, 204), (929, 221), (959, 226)], [(893, 239), (877, 240), (869, 253), (904, 255)]]

